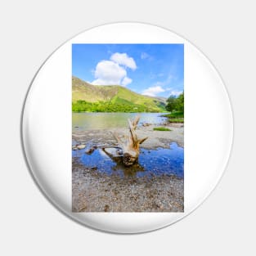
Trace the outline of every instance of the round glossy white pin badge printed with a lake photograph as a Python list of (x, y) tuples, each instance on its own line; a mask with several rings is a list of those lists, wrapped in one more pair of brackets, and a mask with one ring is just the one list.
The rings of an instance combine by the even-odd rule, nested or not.
[(222, 177), (233, 120), (211, 62), (167, 29), (116, 23), (56, 49), (26, 97), (34, 181), (86, 227), (139, 233), (196, 209)]

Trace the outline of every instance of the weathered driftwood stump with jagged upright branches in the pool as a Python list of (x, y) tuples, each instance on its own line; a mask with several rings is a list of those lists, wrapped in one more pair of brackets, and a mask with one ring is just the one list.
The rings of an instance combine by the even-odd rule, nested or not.
[(129, 135), (126, 137), (126, 141), (122, 141), (117, 134), (113, 134), (116, 141), (118, 141), (119, 147), (123, 150), (123, 163), (126, 166), (131, 166), (137, 162), (137, 158), (140, 154), (140, 144), (147, 139), (147, 137), (142, 139), (137, 138), (135, 130), (139, 119), (139, 116), (137, 116), (133, 121), (128, 119)]

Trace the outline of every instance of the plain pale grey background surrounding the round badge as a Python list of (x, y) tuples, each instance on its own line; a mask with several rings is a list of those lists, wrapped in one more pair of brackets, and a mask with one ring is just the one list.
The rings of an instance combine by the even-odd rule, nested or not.
[[(1, 220), (3, 255), (255, 254), (255, 7), (253, 2), (9, 1), (1, 26)], [(20, 147), (20, 112), (29, 83), (56, 47), (83, 29), (143, 21), (195, 43), (222, 74), (231, 97), (235, 141), (217, 189), (171, 227), (117, 236), (72, 222), (43, 197)], [(220, 124), (221, 125), (221, 124)]]

